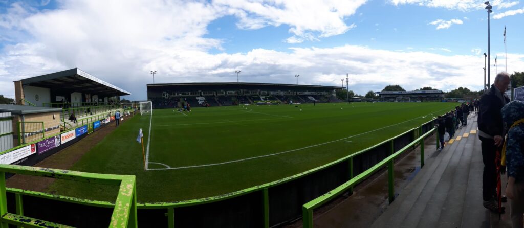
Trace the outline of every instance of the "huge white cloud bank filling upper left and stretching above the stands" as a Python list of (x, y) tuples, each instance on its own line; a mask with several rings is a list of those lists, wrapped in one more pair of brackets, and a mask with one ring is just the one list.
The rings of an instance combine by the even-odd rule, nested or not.
[[(301, 22), (286, 20), (282, 15), (270, 16), (269, 12), (278, 13), (279, 9), (286, 8), (274, 6), (283, 4), (280, 1), (266, 7), (268, 13), (256, 7), (264, 7), (258, 2), (254, 5), (244, 3), (253, 9), (242, 10), (241, 6), (228, 7), (225, 3), (185, 1), (126, 1), (126, 4), (76, 1), (63, 4), (59, 9), (40, 13), (12, 5), (12, 13), (2, 15), (4, 24), (0, 27), (23, 31), (31, 37), (16, 40), (15, 44), (6, 45), (0, 52), (3, 94), (14, 95), (13, 81), (73, 67), (132, 92), (133, 96), (128, 99), (146, 98), (145, 84), (152, 82), (150, 70), (158, 72), (156, 83), (236, 82), (234, 71), (242, 70), (240, 77), (243, 82), (292, 84), (293, 75), (300, 74), (299, 80), (304, 84), (340, 85), (341, 76), (350, 73), (351, 89), (358, 94), (380, 90), (393, 83), (391, 78), (406, 89), (432, 86), (445, 90), (466, 86), (478, 90), (482, 84), (477, 82), (478, 75), (482, 75), (478, 63), (483, 61), (483, 56), (477, 55), (440, 55), (413, 51), (412, 48), (407, 48), (408, 52), (389, 51), (356, 45), (209, 53), (210, 49), (220, 50), (223, 42), (203, 38), (210, 22), (226, 15), (241, 18), (242, 12), (245, 18), (257, 17), (264, 21), (243, 23), (246, 29), (289, 23), (293, 31), (286, 42), (314, 40), (322, 35), (329, 36), (330, 32), (340, 28), (354, 27), (353, 24), (342, 26), (326, 20), (326, 25), (340, 25), (332, 29), (316, 22), (302, 25)], [(330, 8), (331, 11), (337, 10)], [(341, 17), (334, 18), (340, 20)], [(451, 51), (446, 48), (433, 50)], [(508, 69), (510, 72), (524, 71), (524, 56), (508, 54), (508, 65), (515, 66)]]

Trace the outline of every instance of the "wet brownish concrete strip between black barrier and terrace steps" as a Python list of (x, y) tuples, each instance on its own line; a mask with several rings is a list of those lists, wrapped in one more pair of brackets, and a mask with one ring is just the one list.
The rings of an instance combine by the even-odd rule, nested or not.
[[(436, 138), (425, 140), (424, 157), (436, 151)], [(420, 170), (420, 147), (395, 161), (395, 196)], [(313, 211), (314, 227), (369, 227), (388, 206), (387, 167), (357, 185), (353, 195), (345, 194)], [(354, 213), (352, 213), (354, 212)], [(302, 220), (283, 227), (302, 227)]]

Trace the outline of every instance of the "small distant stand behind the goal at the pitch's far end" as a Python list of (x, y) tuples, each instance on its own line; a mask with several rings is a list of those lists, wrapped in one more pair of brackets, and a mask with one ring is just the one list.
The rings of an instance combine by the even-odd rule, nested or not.
[(444, 98), (442, 90), (414, 90), (414, 91), (380, 91), (375, 92), (384, 98), (384, 101), (410, 102), (410, 101), (440, 101)]

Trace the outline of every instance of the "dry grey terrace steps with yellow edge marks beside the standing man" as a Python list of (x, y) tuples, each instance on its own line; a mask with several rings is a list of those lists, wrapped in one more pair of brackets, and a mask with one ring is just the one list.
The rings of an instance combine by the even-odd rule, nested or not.
[[(509, 203), (498, 214), (482, 206), (483, 162), (477, 135), (477, 115), (435, 152), (420, 173), (389, 205), (372, 227), (510, 227)], [(446, 138), (447, 139), (447, 138)], [(434, 151), (433, 148), (428, 148)], [(503, 185), (507, 182), (503, 177)]]

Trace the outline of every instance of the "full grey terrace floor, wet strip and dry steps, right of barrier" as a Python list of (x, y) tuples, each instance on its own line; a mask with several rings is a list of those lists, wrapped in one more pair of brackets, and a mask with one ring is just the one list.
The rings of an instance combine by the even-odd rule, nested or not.
[(470, 115), (468, 123), (441, 152), (435, 150), (434, 136), (427, 141), (423, 168), (419, 150), (396, 163), (396, 198), (389, 206), (386, 173), (316, 216), (315, 227), (511, 227), (509, 202), (503, 203), (501, 220), (482, 206), (484, 165), (477, 115)]

